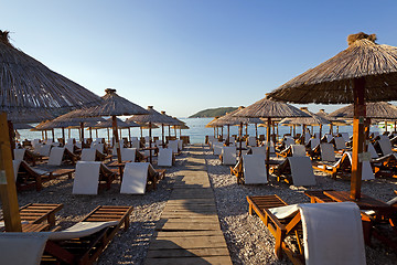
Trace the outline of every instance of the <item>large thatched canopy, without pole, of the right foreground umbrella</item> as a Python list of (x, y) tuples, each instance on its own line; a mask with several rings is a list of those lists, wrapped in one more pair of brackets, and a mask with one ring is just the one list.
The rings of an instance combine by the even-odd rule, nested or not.
[(350, 36), (346, 50), (292, 78), (269, 94), (291, 103), (351, 104), (354, 78), (365, 78), (365, 100), (397, 99), (397, 47), (376, 44), (376, 36)]

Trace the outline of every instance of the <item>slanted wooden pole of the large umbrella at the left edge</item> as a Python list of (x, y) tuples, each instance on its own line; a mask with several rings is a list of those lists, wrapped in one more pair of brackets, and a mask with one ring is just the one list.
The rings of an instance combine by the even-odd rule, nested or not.
[(7, 114), (0, 114), (0, 198), (7, 232), (22, 232)]

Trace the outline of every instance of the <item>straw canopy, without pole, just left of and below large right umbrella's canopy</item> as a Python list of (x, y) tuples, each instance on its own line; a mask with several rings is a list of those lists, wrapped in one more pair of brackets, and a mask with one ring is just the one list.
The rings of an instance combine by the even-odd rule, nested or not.
[(286, 118), (286, 117), (309, 117), (309, 115), (291, 105), (281, 102), (270, 100), (267, 97), (242, 108), (235, 114), (235, 117), (251, 118)]

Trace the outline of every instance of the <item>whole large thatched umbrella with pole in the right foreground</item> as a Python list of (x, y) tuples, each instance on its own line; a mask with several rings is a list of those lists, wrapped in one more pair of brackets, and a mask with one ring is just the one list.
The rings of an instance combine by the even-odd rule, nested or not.
[[(361, 198), (365, 102), (397, 99), (397, 47), (375, 43), (363, 32), (347, 38), (348, 47), (270, 93), (291, 103), (354, 103), (351, 199)], [(367, 156), (366, 156), (367, 157)]]

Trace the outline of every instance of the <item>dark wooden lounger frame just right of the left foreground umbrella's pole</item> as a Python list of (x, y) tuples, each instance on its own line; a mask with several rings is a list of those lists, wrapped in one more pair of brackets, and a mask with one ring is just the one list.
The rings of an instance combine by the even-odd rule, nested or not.
[[(20, 172), (21, 168), (24, 170), (24, 172)], [(54, 171), (40, 174), (34, 171), (25, 161), (22, 160), (18, 170), (18, 177), (15, 181), (17, 189), (21, 191), (35, 188), (36, 191), (41, 191), (43, 188), (43, 182), (62, 176), (67, 176), (68, 179), (72, 179), (72, 173), (74, 171), (74, 169), (56, 169)]]

